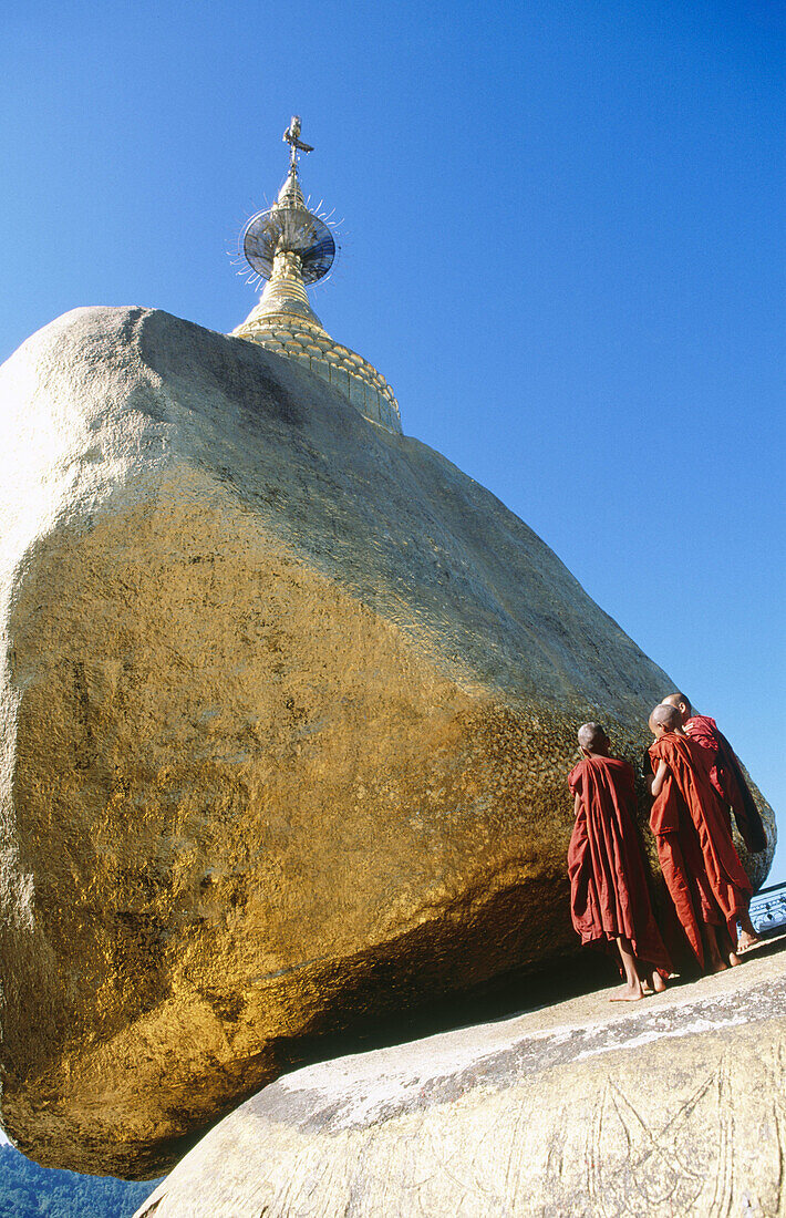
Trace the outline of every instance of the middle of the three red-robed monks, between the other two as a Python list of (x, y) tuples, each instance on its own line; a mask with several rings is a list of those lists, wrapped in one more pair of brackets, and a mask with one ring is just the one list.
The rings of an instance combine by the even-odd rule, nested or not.
[[(726, 967), (719, 927), (721, 942), (725, 923), (732, 944), (737, 944), (740, 923), (741, 951), (759, 942), (748, 912), (751, 881), (709, 777), (712, 755), (685, 733), (675, 706), (656, 706), (650, 730), (656, 737), (650, 756), (657, 767), (650, 825), (658, 842), (663, 876), (699, 963), (704, 965), (706, 946), (710, 970), (719, 972)], [(729, 963), (738, 963), (734, 950)]]

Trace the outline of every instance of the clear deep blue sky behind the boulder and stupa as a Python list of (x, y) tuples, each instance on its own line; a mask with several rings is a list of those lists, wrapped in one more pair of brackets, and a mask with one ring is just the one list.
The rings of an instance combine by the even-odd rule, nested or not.
[(230, 330), (300, 113), (346, 217), (328, 330), (715, 715), (786, 839), (785, 35), (776, 0), (28, 0), (0, 358), (79, 304)]

